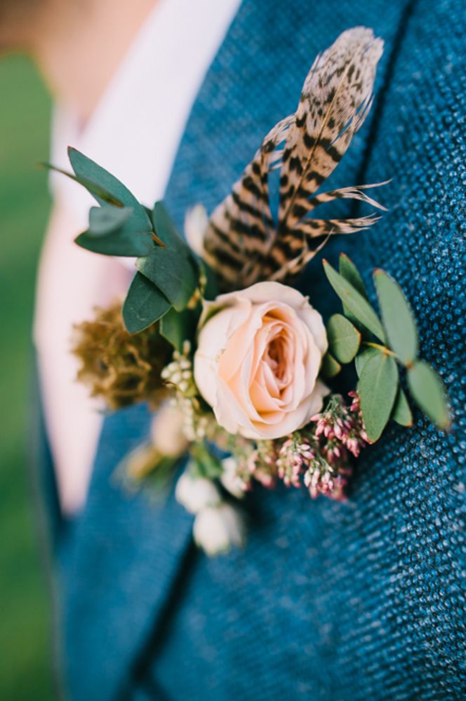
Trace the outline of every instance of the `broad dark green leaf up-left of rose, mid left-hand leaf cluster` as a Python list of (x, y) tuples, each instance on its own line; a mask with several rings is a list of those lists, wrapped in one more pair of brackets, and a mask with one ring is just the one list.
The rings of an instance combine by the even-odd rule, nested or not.
[(177, 311), (187, 306), (197, 286), (190, 261), (171, 248), (152, 247), (149, 255), (138, 258), (136, 268), (159, 287)]

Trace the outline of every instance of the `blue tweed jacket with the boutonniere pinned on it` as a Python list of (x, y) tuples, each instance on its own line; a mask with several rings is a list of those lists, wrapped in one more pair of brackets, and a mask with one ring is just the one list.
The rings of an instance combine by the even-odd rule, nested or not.
[[(374, 266), (399, 280), (455, 428), (441, 435), (420, 416), (411, 431), (392, 426), (359, 460), (348, 503), (258, 486), (246, 550), (208, 559), (173, 496), (157, 508), (112, 482), (147, 435), (146, 409), (107, 418), (86, 509), (56, 550), (72, 699), (465, 697), (463, 11), (460, 0), (244, 0), (167, 196), (180, 226), (189, 205), (212, 210), (295, 109), (317, 52), (348, 27), (373, 27), (385, 39), (375, 104), (333, 182), (392, 177), (379, 193), (390, 211), (326, 257), (347, 252), (366, 282)], [(338, 309), (317, 259), (304, 288), (325, 318)]]

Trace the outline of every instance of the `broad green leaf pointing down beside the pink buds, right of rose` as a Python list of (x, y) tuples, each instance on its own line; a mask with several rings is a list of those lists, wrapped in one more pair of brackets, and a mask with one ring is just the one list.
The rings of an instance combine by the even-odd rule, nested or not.
[(359, 379), (361, 411), (370, 443), (380, 438), (392, 413), (398, 390), (397, 363), (377, 352), (364, 363)]

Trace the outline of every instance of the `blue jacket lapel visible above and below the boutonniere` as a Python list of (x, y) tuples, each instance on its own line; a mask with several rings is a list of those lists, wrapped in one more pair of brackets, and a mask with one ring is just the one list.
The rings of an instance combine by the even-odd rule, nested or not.
[[(323, 36), (287, 7), (244, 0), (211, 65), (166, 195), (180, 229), (187, 208), (202, 202), (211, 211), (228, 193), (267, 130), (295, 109), (314, 55), (357, 23), (342, 15)], [(382, 73), (386, 64), (387, 57)], [(340, 184), (355, 184), (369, 132), (366, 125), (354, 139), (338, 168)], [(106, 418), (86, 510), (63, 551), (65, 664), (76, 699), (105, 701), (126, 686), (192, 544), (192, 517), (173, 494), (160, 508), (112, 482), (121, 457), (147, 437), (149, 421), (145, 407)]]

